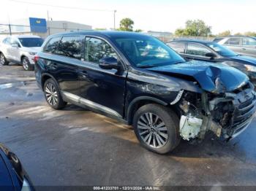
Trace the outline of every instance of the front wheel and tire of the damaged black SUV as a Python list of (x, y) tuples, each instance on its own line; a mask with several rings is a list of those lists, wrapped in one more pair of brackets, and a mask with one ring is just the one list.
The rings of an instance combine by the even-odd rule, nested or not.
[(133, 127), (140, 144), (159, 154), (170, 152), (178, 146), (181, 141), (178, 125), (177, 115), (158, 104), (140, 107), (133, 118)]

